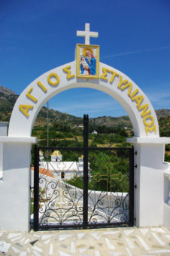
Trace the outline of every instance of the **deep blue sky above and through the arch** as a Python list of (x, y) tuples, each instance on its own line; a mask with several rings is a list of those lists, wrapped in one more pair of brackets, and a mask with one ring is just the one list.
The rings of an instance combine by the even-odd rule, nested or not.
[[(155, 109), (170, 109), (169, 0), (1, 0), (0, 85), (20, 94), (50, 69), (74, 60), (77, 30), (99, 32), (100, 61), (129, 76)], [(76, 88), (56, 95), (50, 108), (83, 116), (123, 116), (107, 94)]]

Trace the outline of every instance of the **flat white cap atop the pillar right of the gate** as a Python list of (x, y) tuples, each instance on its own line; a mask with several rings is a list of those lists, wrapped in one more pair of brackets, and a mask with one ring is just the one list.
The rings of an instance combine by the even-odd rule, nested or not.
[(139, 144), (168, 144), (170, 143), (170, 137), (127, 137), (126, 141), (129, 143), (139, 143)]

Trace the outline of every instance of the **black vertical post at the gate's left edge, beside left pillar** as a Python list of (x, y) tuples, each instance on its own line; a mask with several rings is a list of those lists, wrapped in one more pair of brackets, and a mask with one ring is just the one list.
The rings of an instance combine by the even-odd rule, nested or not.
[(34, 162), (34, 230), (38, 230), (39, 225), (39, 149), (35, 145)]

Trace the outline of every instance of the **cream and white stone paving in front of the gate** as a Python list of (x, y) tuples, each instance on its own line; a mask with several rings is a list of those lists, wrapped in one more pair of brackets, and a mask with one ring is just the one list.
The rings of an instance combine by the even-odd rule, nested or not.
[(164, 227), (0, 231), (0, 255), (170, 256), (170, 233)]

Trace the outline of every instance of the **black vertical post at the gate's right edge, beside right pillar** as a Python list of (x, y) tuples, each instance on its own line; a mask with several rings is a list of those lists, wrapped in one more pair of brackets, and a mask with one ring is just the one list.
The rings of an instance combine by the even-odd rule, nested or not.
[(129, 226), (134, 224), (134, 147), (129, 149)]

